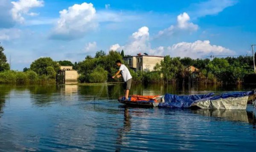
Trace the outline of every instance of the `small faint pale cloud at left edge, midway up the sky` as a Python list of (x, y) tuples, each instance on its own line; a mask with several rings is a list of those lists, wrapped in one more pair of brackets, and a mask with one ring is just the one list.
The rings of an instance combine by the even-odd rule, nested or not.
[(0, 29), (0, 40), (12, 40), (20, 37), (20, 29)]

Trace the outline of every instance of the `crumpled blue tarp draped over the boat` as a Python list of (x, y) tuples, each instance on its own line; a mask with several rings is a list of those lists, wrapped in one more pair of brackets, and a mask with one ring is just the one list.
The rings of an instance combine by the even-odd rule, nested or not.
[(254, 91), (250, 92), (231, 92), (231, 93), (224, 93), (221, 95), (213, 96), (213, 93), (209, 93), (207, 95), (172, 95), (166, 94), (164, 96), (164, 103), (159, 103), (159, 107), (177, 107), (177, 108), (188, 108), (192, 106), (194, 103), (198, 103), (200, 101), (205, 100), (217, 100), (220, 98), (229, 98), (229, 97), (244, 97), (248, 95), (254, 95)]

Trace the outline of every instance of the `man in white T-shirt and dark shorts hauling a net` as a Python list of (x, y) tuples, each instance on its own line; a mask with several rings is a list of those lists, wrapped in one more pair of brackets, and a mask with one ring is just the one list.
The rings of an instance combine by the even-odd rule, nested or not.
[[(118, 72), (116, 72), (116, 74), (112, 78), (115, 78), (115, 77), (119, 78), (121, 76), (123, 77), (123, 80), (125, 82), (123, 85), (125, 99), (128, 100), (129, 91), (131, 89), (131, 78), (132, 78), (131, 73), (129, 72), (128, 68), (124, 64), (121, 63), (120, 60), (116, 61), (116, 65), (119, 66), (120, 68), (119, 68)], [(122, 75), (120, 74), (120, 72)]]

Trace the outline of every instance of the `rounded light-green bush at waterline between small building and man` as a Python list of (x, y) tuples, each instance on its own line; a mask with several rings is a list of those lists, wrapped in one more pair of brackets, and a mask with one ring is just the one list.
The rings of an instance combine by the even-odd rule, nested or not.
[(92, 83), (102, 83), (107, 81), (108, 72), (104, 70), (102, 67), (96, 67), (92, 73), (89, 74), (89, 82)]

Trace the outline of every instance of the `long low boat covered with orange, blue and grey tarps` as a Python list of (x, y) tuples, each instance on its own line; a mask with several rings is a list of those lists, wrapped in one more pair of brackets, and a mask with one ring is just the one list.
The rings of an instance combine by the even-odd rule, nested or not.
[(205, 95), (132, 95), (128, 100), (120, 97), (118, 101), (128, 105), (145, 107), (190, 108), (197, 106), (202, 109), (246, 109), (247, 101), (256, 98), (255, 91), (213, 95), (214, 93)]

